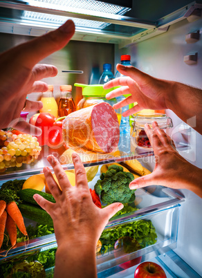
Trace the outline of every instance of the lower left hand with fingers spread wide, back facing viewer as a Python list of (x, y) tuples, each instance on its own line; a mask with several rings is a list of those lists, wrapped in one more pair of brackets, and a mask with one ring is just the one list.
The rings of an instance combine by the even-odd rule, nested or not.
[(53, 219), (55, 237), (58, 248), (65, 243), (73, 245), (95, 246), (100, 238), (104, 226), (109, 219), (121, 210), (122, 203), (113, 203), (100, 209), (91, 198), (88, 181), (84, 166), (77, 154), (73, 154), (73, 164), (75, 166), (75, 181), (73, 187), (54, 156), (48, 156), (48, 162), (53, 167), (59, 189), (53, 175), (48, 167), (44, 167), (44, 175), (50, 192), (53, 194), (56, 203), (50, 203), (38, 194), (34, 195), (35, 201), (50, 214)]

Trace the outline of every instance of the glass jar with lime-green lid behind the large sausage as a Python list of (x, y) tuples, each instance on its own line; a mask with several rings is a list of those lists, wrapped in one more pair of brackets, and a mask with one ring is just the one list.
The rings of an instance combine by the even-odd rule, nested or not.
[[(104, 90), (102, 84), (86, 85), (86, 84), (75, 83), (74, 85), (77, 87), (82, 87), (82, 95), (83, 95), (82, 100), (80, 100), (80, 102), (77, 104), (77, 110), (89, 107), (91, 105), (94, 105), (94, 104), (97, 104), (100, 102), (107, 102), (111, 106), (113, 106), (113, 104), (117, 103), (116, 98), (113, 98), (111, 100), (107, 100), (105, 98), (105, 95), (107, 95), (107, 93), (109, 93), (110, 91), (113, 91), (115, 88)], [(116, 115), (118, 117), (118, 122), (120, 124), (121, 109), (115, 109), (115, 111), (116, 111)]]

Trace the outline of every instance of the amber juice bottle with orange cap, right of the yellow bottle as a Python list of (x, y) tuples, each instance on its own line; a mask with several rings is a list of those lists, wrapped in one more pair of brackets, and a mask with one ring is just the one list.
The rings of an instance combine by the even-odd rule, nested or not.
[(58, 105), (58, 115), (63, 117), (75, 111), (75, 103), (71, 95), (72, 86), (62, 85), (60, 86), (60, 99)]

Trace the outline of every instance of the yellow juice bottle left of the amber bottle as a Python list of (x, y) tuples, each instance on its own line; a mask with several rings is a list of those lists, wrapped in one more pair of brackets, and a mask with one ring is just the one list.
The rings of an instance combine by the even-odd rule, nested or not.
[(53, 95), (53, 85), (48, 85), (48, 91), (42, 93), (41, 102), (43, 102), (43, 108), (40, 112), (48, 112), (57, 118), (58, 107)]

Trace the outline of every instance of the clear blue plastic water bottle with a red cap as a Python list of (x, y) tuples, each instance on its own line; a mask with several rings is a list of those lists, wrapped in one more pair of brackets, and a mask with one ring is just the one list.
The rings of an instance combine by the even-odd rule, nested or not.
[[(122, 55), (120, 57), (120, 62), (124, 66), (131, 66), (131, 56), (130, 55)], [(116, 72), (115, 78), (122, 77), (125, 75), (120, 74), (119, 71)], [(127, 98), (128, 95), (120, 95), (116, 98), (118, 102)], [(129, 110), (129, 105), (122, 107), (122, 113)], [(120, 121), (120, 142), (119, 142), (119, 149), (121, 148), (122, 151), (129, 152), (130, 151), (130, 120), (128, 117), (122, 117)]]

